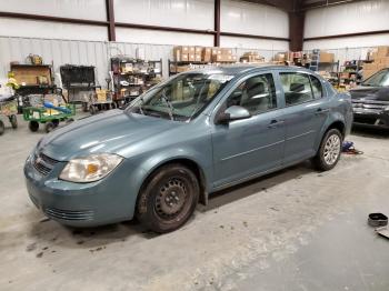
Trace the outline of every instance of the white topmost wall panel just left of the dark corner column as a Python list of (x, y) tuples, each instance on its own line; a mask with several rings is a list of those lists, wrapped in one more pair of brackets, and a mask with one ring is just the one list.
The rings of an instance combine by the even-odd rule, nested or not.
[(280, 9), (231, 0), (221, 1), (220, 9), (221, 31), (280, 38), (289, 37), (288, 13)]

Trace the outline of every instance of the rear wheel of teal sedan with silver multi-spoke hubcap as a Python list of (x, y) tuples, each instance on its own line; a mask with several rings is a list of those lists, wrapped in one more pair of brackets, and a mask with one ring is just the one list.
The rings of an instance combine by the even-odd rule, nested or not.
[[(331, 141), (333, 143), (332, 148), (329, 146)], [(321, 140), (318, 153), (312, 159), (312, 162), (318, 170), (329, 171), (337, 165), (341, 154), (342, 141), (343, 137), (339, 130), (330, 129), (326, 132)]]

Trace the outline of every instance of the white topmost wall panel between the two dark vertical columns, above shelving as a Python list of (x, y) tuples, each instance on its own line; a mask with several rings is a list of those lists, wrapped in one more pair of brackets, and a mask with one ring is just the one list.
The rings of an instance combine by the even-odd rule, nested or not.
[(213, 30), (213, 0), (114, 0), (117, 22)]

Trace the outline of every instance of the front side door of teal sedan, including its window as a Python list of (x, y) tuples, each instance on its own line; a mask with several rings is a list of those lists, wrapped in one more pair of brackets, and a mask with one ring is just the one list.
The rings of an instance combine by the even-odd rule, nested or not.
[(255, 74), (225, 100), (246, 108), (251, 117), (212, 126), (215, 188), (250, 179), (281, 165), (285, 122), (272, 73)]

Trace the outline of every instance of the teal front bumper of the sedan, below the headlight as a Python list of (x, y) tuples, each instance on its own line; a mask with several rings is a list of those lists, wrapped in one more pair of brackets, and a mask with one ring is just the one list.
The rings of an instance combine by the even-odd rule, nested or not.
[[(123, 162), (122, 162), (123, 163)], [(71, 227), (97, 227), (130, 220), (136, 194), (127, 184), (120, 164), (104, 179), (73, 183), (57, 177), (64, 167), (58, 162), (49, 174), (42, 174), (29, 158), (24, 164), (26, 185), (31, 201), (47, 217)], [(118, 171), (119, 170), (119, 171)]]

